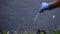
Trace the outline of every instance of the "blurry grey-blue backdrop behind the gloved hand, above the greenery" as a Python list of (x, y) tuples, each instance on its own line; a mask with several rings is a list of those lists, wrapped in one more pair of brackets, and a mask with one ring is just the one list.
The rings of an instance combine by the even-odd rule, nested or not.
[[(23, 32), (43, 29), (47, 34), (59, 26), (60, 8), (41, 13), (34, 21), (42, 2), (53, 0), (0, 0), (0, 30)], [(56, 17), (53, 19), (52, 16)]]

